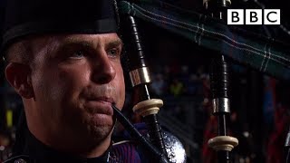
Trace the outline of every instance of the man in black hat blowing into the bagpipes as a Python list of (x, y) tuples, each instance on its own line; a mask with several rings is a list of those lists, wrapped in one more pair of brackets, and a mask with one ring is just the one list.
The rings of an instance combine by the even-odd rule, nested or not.
[(111, 104), (121, 109), (125, 99), (117, 28), (109, 0), (7, 1), (5, 76), (27, 121), (7, 162), (117, 160)]

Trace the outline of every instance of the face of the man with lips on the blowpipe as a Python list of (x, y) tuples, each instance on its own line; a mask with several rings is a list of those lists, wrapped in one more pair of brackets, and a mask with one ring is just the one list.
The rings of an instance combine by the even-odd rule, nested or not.
[(114, 125), (111, 103), (121, 108), (125, 99), (117, 34), (39, 39), (33, 65), (34, 111), (44, 127), (63, 137), (108, 138)]

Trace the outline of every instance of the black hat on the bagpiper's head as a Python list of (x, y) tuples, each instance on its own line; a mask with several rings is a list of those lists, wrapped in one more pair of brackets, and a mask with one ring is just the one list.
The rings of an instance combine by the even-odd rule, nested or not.
[(118, 29), (113, 0), (7, 0), (4, 50), (31, 34), (102, 34)]

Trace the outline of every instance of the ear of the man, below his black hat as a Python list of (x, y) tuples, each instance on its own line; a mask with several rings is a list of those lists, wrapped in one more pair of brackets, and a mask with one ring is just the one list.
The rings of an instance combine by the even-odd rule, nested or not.
[(34, 97), (31, 81), (31, 69), (28, 65), (9, 62), (5, 69), (5, 76), (14, 90), (25, 99)]

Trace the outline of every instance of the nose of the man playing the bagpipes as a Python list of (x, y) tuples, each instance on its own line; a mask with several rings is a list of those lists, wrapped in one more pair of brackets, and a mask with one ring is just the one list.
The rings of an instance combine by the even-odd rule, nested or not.
[(92, 61), (92, 81), (96, 83), (108, 83), (115, 78), (116, 70), (113, 62), (106, 52)]

